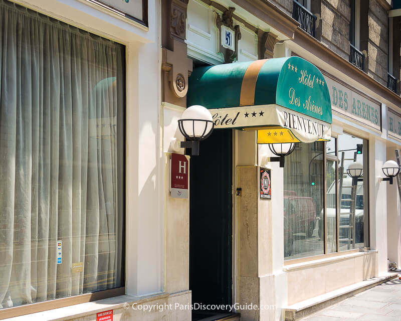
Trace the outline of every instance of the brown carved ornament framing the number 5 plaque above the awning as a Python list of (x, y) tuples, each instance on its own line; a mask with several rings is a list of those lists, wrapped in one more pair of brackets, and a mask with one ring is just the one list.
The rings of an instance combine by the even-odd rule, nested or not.
[[(238, 57), (238, 41), (241, 40), (240, 26), (234, 26), (234, 15), (235, 8), (227, 9), (222, 17), (217, 15), (216, 27), (219, 29), (219, 52), (223, 54), (225, 63), (232, 63)], [(222, 26), (234, 31), (234, 50), (226, 48), (222, 44)]]

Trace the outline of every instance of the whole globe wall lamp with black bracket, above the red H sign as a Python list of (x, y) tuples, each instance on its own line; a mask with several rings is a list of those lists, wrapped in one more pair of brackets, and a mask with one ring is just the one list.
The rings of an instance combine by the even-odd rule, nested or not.
[(185, 109), (178, 128), (186, 141), (181, 141), (181, 148), (189, 148), (190, 155), (199, 155), (199, 141), (208, 138), (215, 127), (212, 114), (204, 106), (193, 105)]

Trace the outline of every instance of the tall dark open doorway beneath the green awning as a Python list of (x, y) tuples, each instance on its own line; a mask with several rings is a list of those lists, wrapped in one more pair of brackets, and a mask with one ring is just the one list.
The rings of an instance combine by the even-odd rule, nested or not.
[(190, 161), (192, 304), (232, 304), (232, 135), (232, 129), (215, 129)]

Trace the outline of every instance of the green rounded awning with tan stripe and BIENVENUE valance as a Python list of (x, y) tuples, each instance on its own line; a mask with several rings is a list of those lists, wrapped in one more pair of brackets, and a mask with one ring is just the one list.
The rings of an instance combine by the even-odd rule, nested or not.
[(327, 84), (318, 68), (299, 57), (196, 68), (187, 105), (210, 109), (215, 128), (259, 129), (263, 141), (330, 139)]

